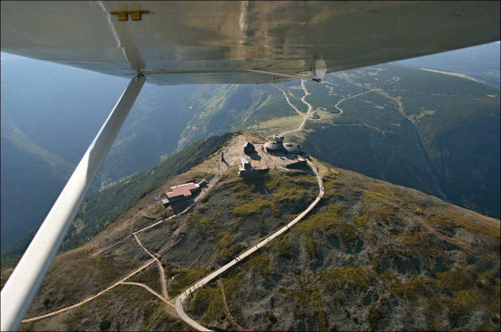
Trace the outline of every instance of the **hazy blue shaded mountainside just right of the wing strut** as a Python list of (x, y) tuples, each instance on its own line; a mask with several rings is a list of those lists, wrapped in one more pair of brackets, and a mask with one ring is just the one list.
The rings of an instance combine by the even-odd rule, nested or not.
[(153, 167), (162, 155), (175, 153), (179, 135), (193, 116), (184, 104), (194, 90), (151, 84), (143, 88), (100, 170), (96, 181), (102, 188)]

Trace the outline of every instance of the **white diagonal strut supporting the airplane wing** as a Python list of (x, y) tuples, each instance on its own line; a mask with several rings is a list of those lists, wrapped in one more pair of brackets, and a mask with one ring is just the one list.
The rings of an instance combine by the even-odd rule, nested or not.
[(132, 79), (2, 289), (2, 331), (17, 330), (141, 88)]

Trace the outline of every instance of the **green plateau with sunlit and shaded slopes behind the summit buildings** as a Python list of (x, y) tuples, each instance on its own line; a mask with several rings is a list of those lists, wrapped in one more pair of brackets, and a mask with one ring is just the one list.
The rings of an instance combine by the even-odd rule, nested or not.
[[(305, 86), (305, 100), (325, 117), (307, 121), (286, 139), (301, 141), (309, 153), (339, 167), (499, 217), (499, 89), (394, 64), (331, 74), (322, 84)], [(277, 87), (307, 110), (299, 81)], [(277, 87), (198, 88), (186, 104), (195, 115), (178, 149), (225, 130), (271, 136), (299, 126), (294, 118), (300, 115)], [(338, 115), (334, 105), (347, 97)]]

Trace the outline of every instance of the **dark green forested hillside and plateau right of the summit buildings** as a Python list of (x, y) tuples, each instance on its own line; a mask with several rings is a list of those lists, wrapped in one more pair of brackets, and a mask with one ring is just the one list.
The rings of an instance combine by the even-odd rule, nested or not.
[[(350, 145), (343, 139), (345, 135), (337, 134), (333, 143), (336, 148), (329, 147), (326, 144), (329, 140), (322, 136), (345, 133), (346, 129), (340, 126), (346, 125), (350, 131), (362, 130), (353, 125), (363, 124), (361, 134), (369, 131), (366, 135), (380, 137), (372, 141), (374, 146), (386, 150), (387, 155), (381, 153), (380, 167), (374, 167), (378, 165), (378, 157), (371, 160), (374, 172), (371, 176), (419, 189), (489, 216), (499, 216), (499, 89), (395, 65), (336, 74), (325, 84), (325, 90), (334, 91), (333, 86), (339, 86), (341, 81), (373, 91), (340, 103), (344, 113), (332, 116), (331, 125), (325, 126), (322, 121), (307, 123), (305, 143), (315, 146), (324, 160), (342, 167), (355, 162), (357, 165), (347, 168), (361, 172), (357, 167), (367, 162), (371, 153), (365, 150), (347, 158), (346, 151), (340, 158), (336, 155)], [(354, 136), (360, 139), (360, 135)], [(370, 142), (371, 139), (365, 139), (366, 146)], [(416, 159), (407, 159), (412, 157)]]

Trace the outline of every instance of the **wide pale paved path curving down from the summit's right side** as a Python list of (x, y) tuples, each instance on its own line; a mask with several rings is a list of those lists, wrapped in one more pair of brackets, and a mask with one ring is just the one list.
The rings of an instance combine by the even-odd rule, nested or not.
[[(226, 272), (227, 270), (229, 270), (230, 268), (232, 268), (234, 265), (238, 264), (242, 259), (245, 259), (246, 257), (248, 257), (248, 256), (252, 255), (253, 253), (255, 253), (256, 251), (258, 251), (260, 248), (266, 246), (273, 239), (276, 239), (280, 235), (282, 235), (282, 234), (286, 233), (287, 231), (289, 231), (289, 229), (292, 226), (294, 226), (296, 223), (298, 223), (299, 221), (301, 221), (318, 204), (318, 202), (320, 202), (320, 200), (322, 199), (322, 197), (324, 196), (324, 193), (325, 193), (325, 189), (324, 189), (324, 185), (323, 185), (323, 182), (322, 182), (322, 178), (318, 174), (318, 170), (315, 167), (315, 165), (313, 164), (313, 162), (311, 162), (311, 161), (308, 160), (308, 163), (310, 164), (311, 168), (314, 170), (313, 175), (317, 178), (318, 186), (319, 186), (319, 189), (320, 189), (320, 193), (318, 194), (318, 197), (315, 199), (315, 201), (313, 201), (313, 203), (310, 204), (308, 206), (308, 208), (306, 208), (305, 211), (303, 211), (299, 216), (297, 216), (289, 224), (287, 224), (286, 226), (282, 227), (280, 230), (278, 230), (277, 232), (275, 232), (271, 236), (266, 237), (260, 243), (254, 245), (253, 247), (251, 247), (247, 251), (245, 251), (245, 252), (241, 253), (240, 255), (236, 256), (235, 259), (233, 259), (228, 264), (220, 267), (218, 270), (212, 272), (211, 274), (209, 274), (205, 278), (203, 278), (203, 279), (199, 280), (198, 282), (196, 282), (194, 285), (192, 285), (188, 289), (184, 290), (181, 293), (181, 295), (179, 295), (179, 297), (176, 300), (176, 311), (177, 311), (177, 313), (179, 314), (179, 317), (182, 320), (184, 320), (186, 323), (188, 323), (193, 328), (196, 328), (199, 331), (210, 331), (210, 329), (207, 329), (207, 328), (203, 327), (202, 325), (200, 325), (199, 323), (197, 323), (195, 320), (193, 320), (192, 318), (190, 318), (184, 312), (183, 302), (186, 299), (186, 297), (188, 295), (192, 294), (193, 292), (195, 292), (196, 290), (200, 289), (201, 287), (203, 287), (204, 285), (206, 285), (210, 281), (214, 280), (216, 277), (218, 277), (222, 273)], [(308, 172), (308, 173), (310, 173), (310, 172)]]

